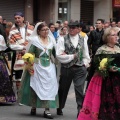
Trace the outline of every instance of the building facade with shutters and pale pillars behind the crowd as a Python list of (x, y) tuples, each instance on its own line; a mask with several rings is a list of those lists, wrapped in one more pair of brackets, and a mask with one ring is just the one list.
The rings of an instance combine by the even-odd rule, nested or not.
[(119, 16), (120, 10), (113, 1), (116, 0), (1, 0), (0, 15), (13, 21), (14, 13), (21, 11), (30, 23), (82, 20), (94, 24), (98, 18), (109, 21)]

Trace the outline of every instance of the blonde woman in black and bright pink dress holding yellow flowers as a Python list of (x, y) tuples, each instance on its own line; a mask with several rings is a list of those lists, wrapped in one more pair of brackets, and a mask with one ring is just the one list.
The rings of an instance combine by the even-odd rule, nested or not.
[(91, 79), (78, 120), (120, 120), (120, 47), (115, 28), (107, 28), (95, 55)]

